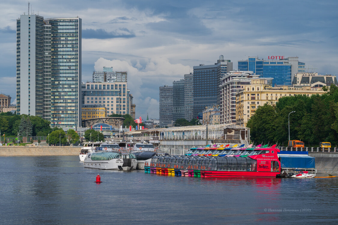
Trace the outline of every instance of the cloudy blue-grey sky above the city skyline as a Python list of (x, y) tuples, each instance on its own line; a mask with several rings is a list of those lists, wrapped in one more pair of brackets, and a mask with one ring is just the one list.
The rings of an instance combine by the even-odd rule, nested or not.
[[(2, 1), (0, 91), (16, 102), (16, 19), (27, 1)], [(159, 87), (193, 66), (248, 56), (298, 56), (319, 74), (338, 74), (338, 1), (31, 0), (44, 18), (82, 19), (82, 82), (113, 66), (127, 71), (136, 117), (159, 118)], [(311, 71), (310, 71), (311, 72)]]

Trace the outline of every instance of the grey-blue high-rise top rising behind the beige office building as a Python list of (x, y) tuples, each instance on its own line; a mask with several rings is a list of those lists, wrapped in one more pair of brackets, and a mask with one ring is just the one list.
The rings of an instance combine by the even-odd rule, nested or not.
[(127, 82), (127, 72), (116, 72), (113, 67), (103, 67), (103, 71), (93, 72), (93, 82)]

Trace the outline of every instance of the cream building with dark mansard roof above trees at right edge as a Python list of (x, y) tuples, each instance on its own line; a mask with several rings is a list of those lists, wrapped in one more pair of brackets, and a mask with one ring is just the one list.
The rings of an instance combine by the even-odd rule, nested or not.
[(336, 76), (318, 75), (318, 73), (297, 73), (292, 81), (293, 86), (323, 87), (331, 86), (331, 84), (338, 86)]

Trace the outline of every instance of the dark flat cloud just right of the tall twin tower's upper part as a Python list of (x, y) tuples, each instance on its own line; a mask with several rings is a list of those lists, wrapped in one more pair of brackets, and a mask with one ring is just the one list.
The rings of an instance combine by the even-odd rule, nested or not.
[(110, 38), (131, 38), (135, 37), (133, 31), (127, 28), (119, 28), (115, 31), (107, 32), (104, 29), (84, 29), (82, 30), (82, 38), (97, 38), (97, 39), (110, 39)]

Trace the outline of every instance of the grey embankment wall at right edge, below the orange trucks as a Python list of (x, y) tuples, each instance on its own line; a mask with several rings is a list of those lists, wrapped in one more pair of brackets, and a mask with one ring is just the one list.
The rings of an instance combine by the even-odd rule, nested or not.
[(309, 152), (315, 158), (317, 176), (338, 176), (338, 152)]

